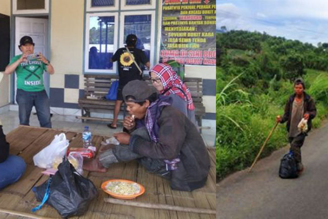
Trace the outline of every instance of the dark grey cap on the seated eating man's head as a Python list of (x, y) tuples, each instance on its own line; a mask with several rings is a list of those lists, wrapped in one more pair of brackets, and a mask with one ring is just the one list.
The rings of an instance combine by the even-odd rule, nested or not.
[(153, 86), (149, 86), (147, 82), (140, 80), (133, 80), (127, 83), (122, 91), (124, 101), (127, 101), (128, 96), (133, 96), (133, 102), (144, 102), (156, 90)]

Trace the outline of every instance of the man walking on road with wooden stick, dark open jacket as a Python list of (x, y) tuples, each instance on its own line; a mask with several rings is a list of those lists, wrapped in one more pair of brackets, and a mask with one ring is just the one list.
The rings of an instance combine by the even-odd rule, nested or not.
[[(312, 119), (315, 117), (316, 108), (313, 98), (304, 92), (305, 86), (302, 79), (296, 79), (294, 82), (295, 93), (291, 95), (285, 106), (285, 114), (281, 118), (277, 116), (277, 122), (285, 123), (287, 121), (288, 140), (291, 145), (290, 150), (294, 153), (297, 171), (303, 171), (301, 147), (304, 143), (307, 133), (311, 130)], [(298, 129), (298, 124), (302, 118), (307, 120), (308, 130), (302, 132)]]

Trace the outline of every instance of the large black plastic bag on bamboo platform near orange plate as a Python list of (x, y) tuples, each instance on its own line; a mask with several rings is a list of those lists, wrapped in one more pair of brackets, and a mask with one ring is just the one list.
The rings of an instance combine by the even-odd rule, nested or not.
[(60, 163), (58, 171), (48, 181), (50, 182), (34, 187), (33, 192), (37, 201), (42, 201), (49, 184), (47, 203), (62, 217), (84, 214), (91, 200), (97, 196), (97, 189), (93, 183), (76, 172), (67, 159)]

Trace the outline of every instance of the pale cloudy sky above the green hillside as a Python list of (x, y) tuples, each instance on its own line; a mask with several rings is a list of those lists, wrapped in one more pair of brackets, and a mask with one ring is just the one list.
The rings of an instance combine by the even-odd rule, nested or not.
[(221, 26), (317, 45), (328, 42), (328, 1), (216, 0), (216, 28)]

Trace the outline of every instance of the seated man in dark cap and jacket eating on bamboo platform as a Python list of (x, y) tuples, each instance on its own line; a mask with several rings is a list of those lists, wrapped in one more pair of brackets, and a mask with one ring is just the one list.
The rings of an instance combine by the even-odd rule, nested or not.
[(157, 98), (147, 82), (134, 80), (124, 86), (123, 98), (130, 116), (124, 119), (126, 132), (114, 134), (120, 145), (100, 152), (83, 169), (106, 172), (112, 163), (137, 159), (147, 171), (169, 180), (172, 189), (203, 187), (209, 171), (207, 149), (196, 126), (171, 106), (172, 97)]

